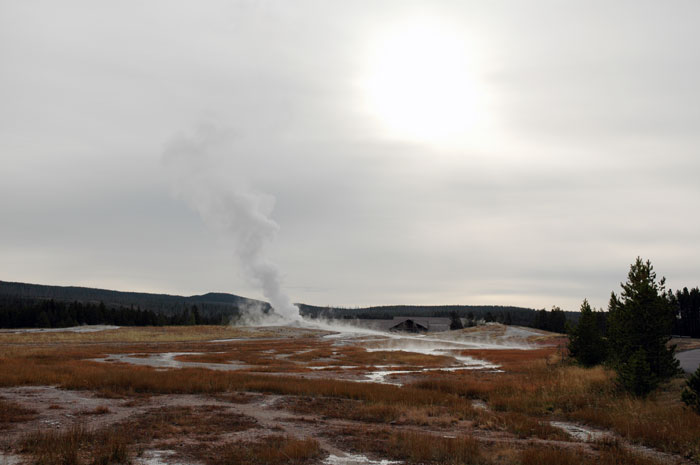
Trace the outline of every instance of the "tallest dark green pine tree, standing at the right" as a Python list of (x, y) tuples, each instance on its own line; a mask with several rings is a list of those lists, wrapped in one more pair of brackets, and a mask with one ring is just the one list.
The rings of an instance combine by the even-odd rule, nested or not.
[(630, 267), (620, 298), (610, 297), (608, 341), (611, 362), (621, 384), (646, 395), (678, 372), (671, 339), (675, 308), (668, 301), (665, 279), (656, 282), (648, 260), (637, 257)]

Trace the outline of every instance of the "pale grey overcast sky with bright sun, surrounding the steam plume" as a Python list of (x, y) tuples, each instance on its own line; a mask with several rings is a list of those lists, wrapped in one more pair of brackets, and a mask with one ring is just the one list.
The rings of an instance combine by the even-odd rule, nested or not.
[(699, 21), (0, 0), (0, 279), (261, 297), (164, 168), (213, 128), (207, 170), (269, 201), (296, 302), (599, 307), (638, 255), (700, 285)]

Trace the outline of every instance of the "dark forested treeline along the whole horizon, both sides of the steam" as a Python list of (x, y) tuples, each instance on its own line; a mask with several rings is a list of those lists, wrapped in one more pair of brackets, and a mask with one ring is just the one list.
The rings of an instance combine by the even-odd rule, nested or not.
[[(668, 291), (677, 309), (673, 334), (700, 337), (700, 290)], [(392, 319), (395, 316), (494, 321), (563, 333), (578, 322), (580, 313), (535, 310), (499, 305), (389, 305), (362, 308), (318, 307), (298, 304), (303, 316), (332, 319)], [(120, 292), (84, 287), (44, 286), (0, 281), (0, 327), (67, 327), (82, 324), (180, 325), (218, 324), (240, 316), (244, 308), (267, 313), (270, 305), (234, 294), (209, 293), (183, 297)], [(607, 312), (595, 312), (605, 332)], [(192, 323), (194, 319), (194, 323)]]

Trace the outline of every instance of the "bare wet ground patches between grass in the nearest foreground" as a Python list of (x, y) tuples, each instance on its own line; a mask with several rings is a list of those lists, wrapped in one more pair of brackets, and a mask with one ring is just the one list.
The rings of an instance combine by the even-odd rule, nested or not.
[[(348, 448), (341, 437), (334, 437), (334, 431), (347, 431), (353, 428), (363, 428), (366, 424), (360, 421), (329, 418), (322, 414), (299, 414), (290, 407), (299, 399), (295, 396), (244, 394), (244, 397), (228, 399), (225, 396), (209, 395), (161, 395), (134, 399), (105, 399), (90, 392), (67, 391), (50, 386), (31, 386), (18, 388), (0, 388), (0, 396), (21, 405), (33, 406), (36, 416), (30, 421), (16, 424), (9, 430), (3, 431), (0, 439), (0, 465), (26, 465), (31, 463), (27, 456), (11, 451), (11, 444), (23, 435), (37, 430), (64, 430), (71, 425), (81, 424), (89, 429), (97, 430), (120, 424), (133, 418), (148, 415), (159, 415), (173, 409), (190, 409), (192, 412), (216, 412), (220, 418), (238, 416), (247, 418), (252, 427), (239, 431), (219, 432), (206, 436), (207, 446), (211, 443), (254, 440), (265, 437), (270, 432), (281, 432), (294, 437), (313, 437), (323, 449), (324, 457), (317, 462), (319, 465), (393, 465), (401, 461), (389, 460), (371, 454), (360, 454)], [(489, 407), (479, 401), (480, 409)], [(162, 421), (162, 420), (160, 420)], [(425, 431), (445, 438), (455, 438), (469, 435), (487, 444), (501, 444), (508, 447), (527, 446), (533, 443), (541, 447), (580, 448), (583, 445), (595, 450), (596, 444), (603, 440), (620, 441), (615, 434), (582, 424), (564, 421), (553, 421), (552, 426), (565, 431), (570, 440), (543, 440), (521, 437), (505, 432), (475, 429), (472, 422), (460, 421), (450, 425), (396, 425), (406, 431)], [(167, 425), (164, 426), (167, 431)], [(204, 426), (206, 428), (206, 426)], [(141, 432), (139, 432), (141, 433)], [(200, 431), (206, 434), (205, 430)], [(342, 433), (341, 433), (342, 434)], [(161, 439), (149, 445), (141, 446), (141, 451), (134, 457), (134, 465), (203, 465), (201, 460), (188, 457), (188, 448), (196, 447), (197, 440), (193, 438), (172, 437), (161, 435)], [(534, 442), (533, 442), (534, 441)], [(641, 451), (645, 455), (663, 459), (663, 463), (686, 463), (678, 457), (673, 457), (651, 449), (641, 448), (630, 444), (628, 447)]]

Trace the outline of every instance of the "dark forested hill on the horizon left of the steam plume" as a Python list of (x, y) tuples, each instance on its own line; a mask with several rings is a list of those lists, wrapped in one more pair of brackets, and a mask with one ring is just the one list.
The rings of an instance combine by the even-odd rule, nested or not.
[(88, 287), (46, 286), (0, 281), (0, 305), (7, 305), (17, 301), (41, 300), (80, 302), (83, 304), (104, 303), (107, 308), (133, 307), (162, 315), (180, 314), (185, 309), (190, 309), (193, 306), (197, 306), (199, 312), (206, 316), (233, 316), (238, 314), (239, 309), (249, 305), (261, 305), (263, 308), (269, 307), (267, 303), (259, 300), (226, 293), (212, 292), (185, 297), (169, 294), (122, 292)]

